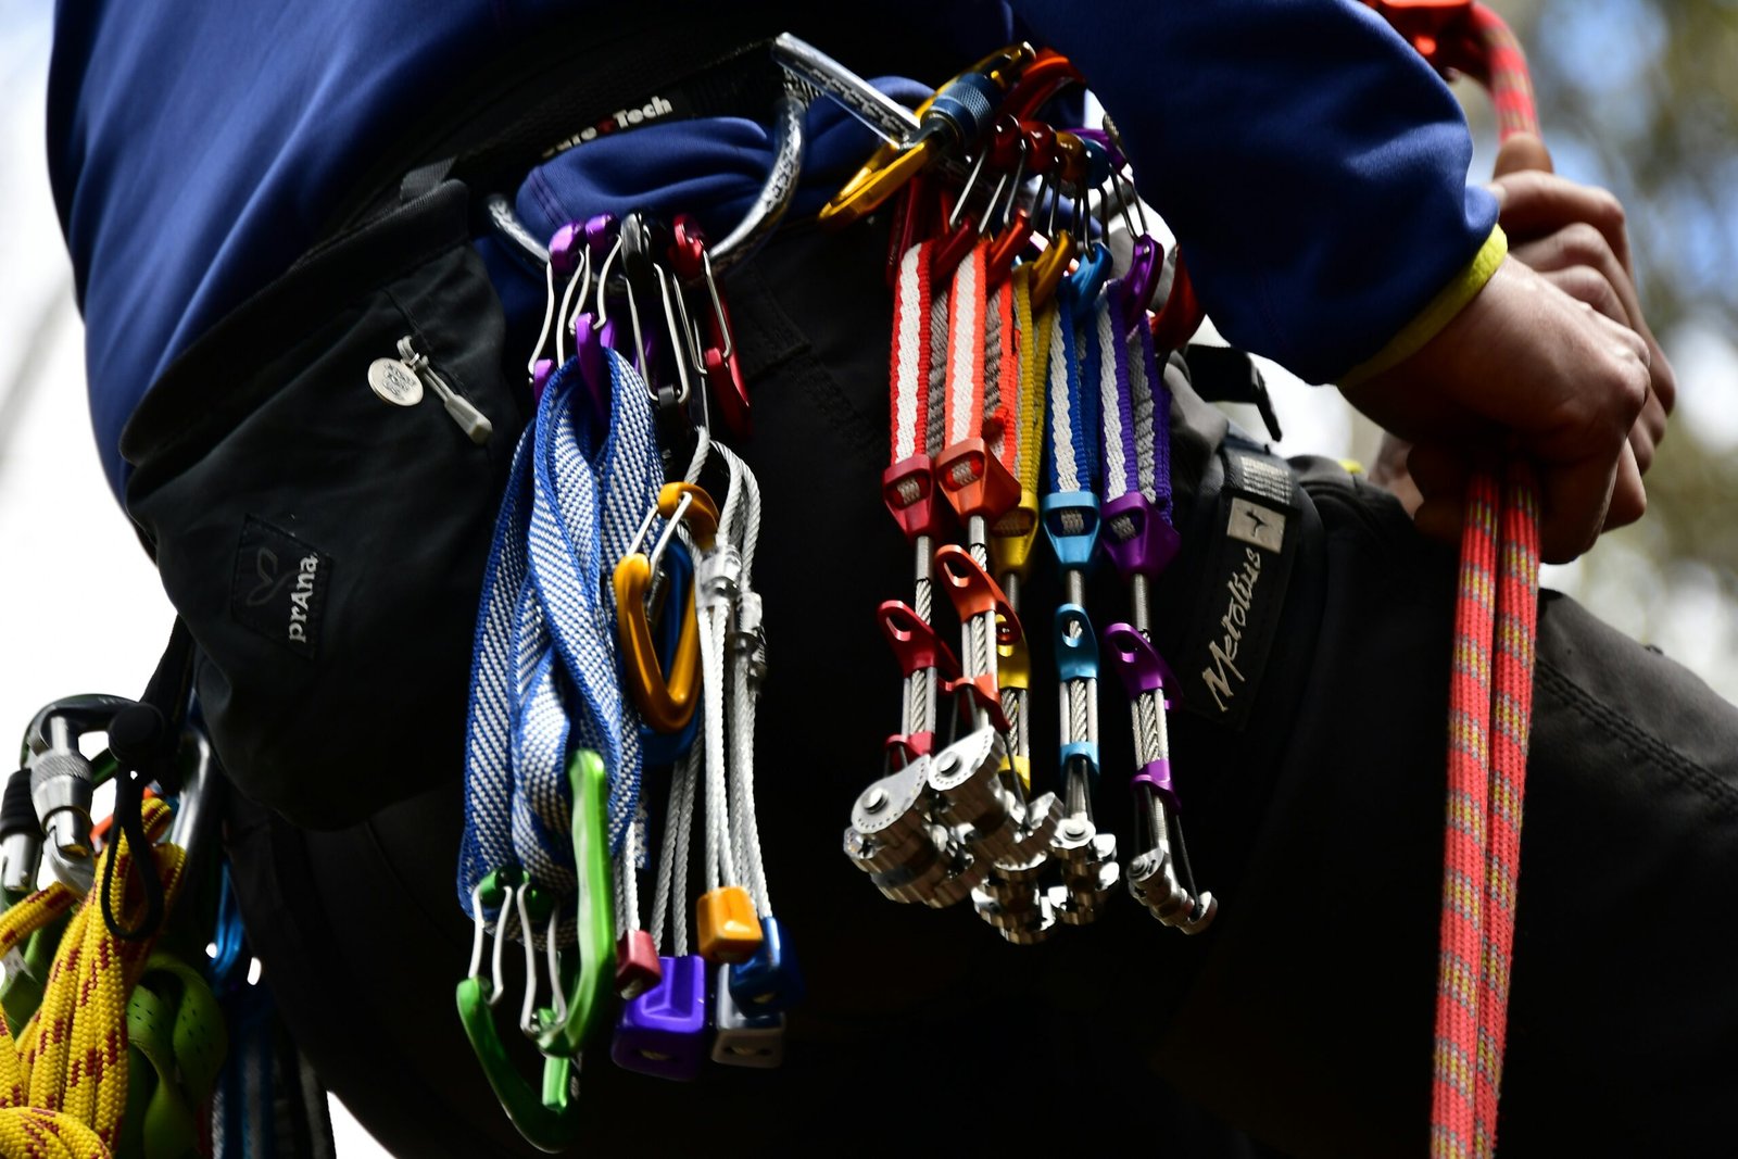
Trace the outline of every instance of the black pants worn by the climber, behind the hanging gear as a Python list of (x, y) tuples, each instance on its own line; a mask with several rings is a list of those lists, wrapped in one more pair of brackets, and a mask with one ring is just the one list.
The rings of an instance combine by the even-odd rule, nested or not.
[[(886, 902), (841, 857), (899, 712), (871, 613), (909, 587), (878, 485), (879, 245), (872, 229), (789, 231), (730, 287), (756, 422), (740, 450), (766, 507), (761, 834), (810, 999), (779, 1072), (713, 1067), (678, 1086), (594, 1048), (582, 1147), (1248, 1147), (1194, 1102), (1290, 1154), (1423, 1154), (1455, 558), (1337, 466), (1297, 464), (1304, 542), (1248, 725), (1173, 719), (1191, 853), (1222, 898), (1210, 931), (1184, 938), (1116, 897), (1091, 928), (1010, 947), (968, 912)], [(1170, 648), (1217, 584), (1224, 530), (1222, 421), (1178, 405), (1185, 549), (1158, 596)], [(1048, 554), (1036, 566), (1053, 572)], [(1053, 606), (1053, 580), (1025, 599)], [(1029, 631), (1048, 638), (1043, 617)], [(1738, 905), (1738, 712), (1568, 598), (1543, 596), (1538, 655), (1502, 1152), (1714, 1154), (1738, 1123), (1738, 956), (1719, 933)], [(1100, 815), (1128, 834), (1126, 709), (1102, 688)], [(1034, 695), (1041, 712), (1050, 700)], [(1032, 735), (1043, 770), (1053, 719)], [(471, 938), (459, 829), (457, 754), (438, 787), (353, 831), (245, 805), (229, 829), (287, 1022), (405, 1156), (527, 1150), (452, 1008)]]

